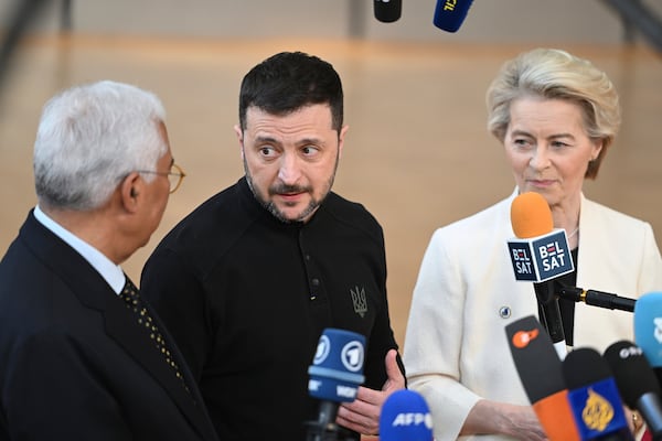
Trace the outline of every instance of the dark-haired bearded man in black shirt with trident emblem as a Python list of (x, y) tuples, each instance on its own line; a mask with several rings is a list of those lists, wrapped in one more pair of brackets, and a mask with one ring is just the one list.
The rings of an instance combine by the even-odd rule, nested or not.
[(245, 176), (175, 226), (145, 267), (142, 292), (221, 439), (305, 439), (319, 409), (308, 367), (325, 327), (366, 337), (366, 380), (340, 426), (376, 433), (381, 405), (405, 387), (382, 227), (331, 191), (346, 130), (329, 63), (295, 52), (255, 66), (235, 127)]

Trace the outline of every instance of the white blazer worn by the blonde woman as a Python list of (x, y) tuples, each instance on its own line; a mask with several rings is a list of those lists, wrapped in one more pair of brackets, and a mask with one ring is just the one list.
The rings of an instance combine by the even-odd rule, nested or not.
[[(404, 345), (408, 385), (430, 407), (437, 441), (456, 440), (481, 399), (526, 405), (504, 326), (537, 316), (533, 283), (515, 281), (506, 200), (437, 229), (414, 289)], [(577, 287), (639, 295), (662, 290), (662, 258), (650, 224), (581, 196)], [(602, 353), (633, 341), (633, 314), (577, 303), (575, 347)], [(462, 437), (506, 440), (506, 437)]]

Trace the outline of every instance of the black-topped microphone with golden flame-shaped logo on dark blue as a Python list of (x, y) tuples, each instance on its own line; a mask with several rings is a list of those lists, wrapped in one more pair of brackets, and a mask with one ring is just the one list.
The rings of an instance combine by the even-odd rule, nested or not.
[(576, 348), (562, 366), (580, 439), (632, 441), (618, 387), (600, 354), (590, 347)]

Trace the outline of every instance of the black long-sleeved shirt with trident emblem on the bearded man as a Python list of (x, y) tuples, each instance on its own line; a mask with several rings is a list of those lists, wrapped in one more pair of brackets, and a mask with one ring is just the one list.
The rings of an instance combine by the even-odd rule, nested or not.
[(365, 335), (364, 385), (373, 389), (397, 348), (382, 227), (335, 193), (308, 223), (286, 224), (241, 179), (163, 238), (141, 292), (199, 379), (223, 440), (305, 439), (319, 407), (308, 367), (325, 327)]

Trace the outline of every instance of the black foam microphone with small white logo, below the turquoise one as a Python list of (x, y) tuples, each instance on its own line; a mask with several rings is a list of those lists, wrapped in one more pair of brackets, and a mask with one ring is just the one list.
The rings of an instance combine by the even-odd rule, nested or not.
[(626, 405), (639, 410), (653, 440), (662, 440), (662, 391), (641, 347), (620, 341), (609, 346), (604, 357), (613, 372)]

